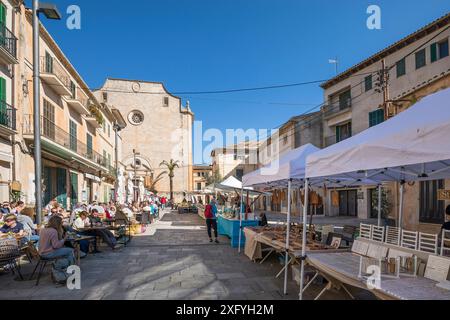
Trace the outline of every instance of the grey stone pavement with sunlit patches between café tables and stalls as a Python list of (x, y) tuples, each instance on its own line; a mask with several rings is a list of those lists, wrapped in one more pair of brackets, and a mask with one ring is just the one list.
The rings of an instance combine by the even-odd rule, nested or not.
[[(52, 283), (49, 269), (35, 281), (16, 281), (0, 273), (0, 299), (298, 299), (298, 286), (289, 281), (289, 295), (282, 294), (283, 279), (276, 257), (263, 265), (251, 262), (231, 248), (227, 238), (210, 244), (204, 222), (197, 215), (166, 212), (161, 221), (120, 250), (81, 261), (81, 290)], [(22, 267), (26, 279), (32, 265)], [(320, 287), (310, 290), (312, 298)], [(325, 299), (345, 298), (330, 292)]]

